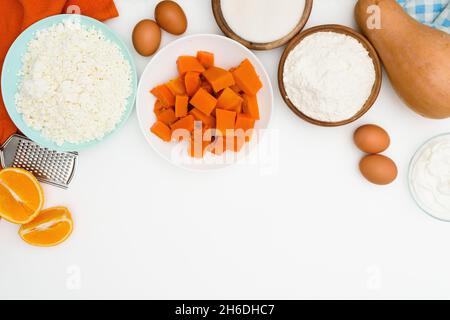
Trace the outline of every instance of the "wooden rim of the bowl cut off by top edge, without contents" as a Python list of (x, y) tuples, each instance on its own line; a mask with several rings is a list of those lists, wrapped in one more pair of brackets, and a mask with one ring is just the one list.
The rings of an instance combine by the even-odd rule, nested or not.
[(266, 43), (251, 42), (238, 36), (233, 30), (231, 30), (230, 26), (225, 21), (225, 18), (222, 13), (222, 6), (220, 5), (220, 0), (211, 0), (211, 5), (214, 13), (214, 18), (216, 19), (219, 28), (228, 38), (236, 40), (252, 50), (271, 50), (285, 45), (303, 29), (311, 14), (313, 0), (305, 1), (305, 9), (303, 10), (303, 15), (300, 18), (300, 21), (298, 22), (297, 26), (291, 32), (289, 32), (286, 36), (284, 36), (281, 39)]

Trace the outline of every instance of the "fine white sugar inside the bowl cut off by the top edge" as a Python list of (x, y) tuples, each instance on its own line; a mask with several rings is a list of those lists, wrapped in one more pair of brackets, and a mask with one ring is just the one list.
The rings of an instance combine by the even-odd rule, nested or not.
[(266, 43), (297, 26), (305, 0), (221, 0), (220, 6), (231, 30), (245, 40)]

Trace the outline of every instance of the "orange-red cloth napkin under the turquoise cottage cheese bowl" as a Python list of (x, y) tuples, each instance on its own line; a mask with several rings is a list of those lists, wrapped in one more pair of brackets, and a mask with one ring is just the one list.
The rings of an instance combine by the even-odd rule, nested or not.
[[(82, 15), (98, 20), (119, 15), (113, 0), (1, 0), (0, 70), (9, 47), (23, 30), (43, 18), (66, 13), (67, 8), (73, 5), (80, 8)], [(9, 118), (0, 94), (0, 144), (16, 131), (17, 128)]]

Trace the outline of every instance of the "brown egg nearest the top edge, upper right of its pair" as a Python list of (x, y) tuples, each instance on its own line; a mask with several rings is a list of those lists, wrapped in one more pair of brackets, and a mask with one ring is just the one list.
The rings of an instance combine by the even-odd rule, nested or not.
[(161, 1), (155, 8), (155, 19), (169, 33), (180, 35), (186, 31), (187, 19), (183, 9), (174, 1)]

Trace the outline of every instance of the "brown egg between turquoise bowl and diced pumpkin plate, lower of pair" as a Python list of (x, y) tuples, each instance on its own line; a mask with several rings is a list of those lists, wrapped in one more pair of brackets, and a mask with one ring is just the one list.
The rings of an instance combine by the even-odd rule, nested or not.
[(142, 20), (133, 30), (133, 45), (144, 56), (151, 56), (161, 44), (161, 29), (153, 20)]

